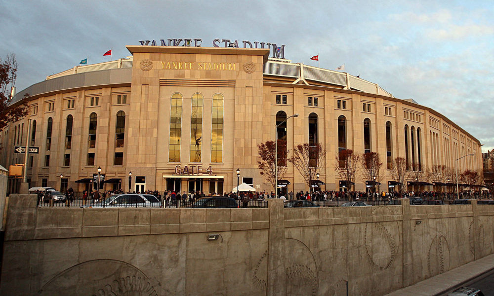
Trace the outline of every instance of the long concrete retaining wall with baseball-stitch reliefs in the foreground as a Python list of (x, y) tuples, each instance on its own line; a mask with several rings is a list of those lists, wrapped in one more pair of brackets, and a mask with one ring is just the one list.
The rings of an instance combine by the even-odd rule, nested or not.
[(475, 201), (57, 209), (11, 195), (0, 294), (343, 296), (348, 282), (349, 295), (384, 295), (492, 254), (493, 219)]

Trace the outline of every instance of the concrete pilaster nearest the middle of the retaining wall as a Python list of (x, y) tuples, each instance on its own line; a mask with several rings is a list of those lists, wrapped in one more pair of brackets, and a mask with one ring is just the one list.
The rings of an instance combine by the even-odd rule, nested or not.
[(283, 200), (269, 199), (267, 296), (287, 294), (285, 270), (285, 215)]

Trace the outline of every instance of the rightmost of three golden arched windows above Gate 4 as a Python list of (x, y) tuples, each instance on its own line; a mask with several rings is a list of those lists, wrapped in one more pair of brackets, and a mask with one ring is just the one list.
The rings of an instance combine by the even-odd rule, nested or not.
[(223, 105), (225, 98), (222, 94), (213, 96), (211, 115), (211, 162), (223, 161)]

